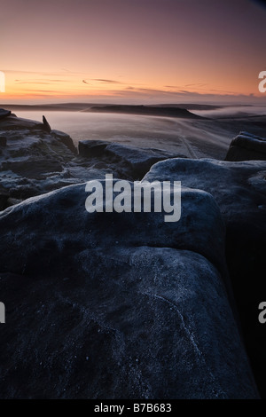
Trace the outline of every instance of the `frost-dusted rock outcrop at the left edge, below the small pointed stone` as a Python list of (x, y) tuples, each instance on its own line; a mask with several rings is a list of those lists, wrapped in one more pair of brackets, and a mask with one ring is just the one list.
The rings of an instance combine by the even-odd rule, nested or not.
[(2, 199), (0, 209), (8, 207), (11, 201), (78, 182), (67, 169), (76, 155), (73, 141), (66, 133), (48, 133), (43, 130), (43, 123), (20, 119), (15, 114), (1, 119), (0, 180), (8, 201)]

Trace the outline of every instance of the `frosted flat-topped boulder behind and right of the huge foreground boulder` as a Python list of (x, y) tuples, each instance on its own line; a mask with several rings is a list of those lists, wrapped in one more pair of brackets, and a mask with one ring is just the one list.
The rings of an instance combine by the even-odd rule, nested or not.
[(256, 381), (266, 396), (265, 330), (258, 306), (266, 294), (266, 162), (171, 160), (153, 166), (145, 179), (180, 180), (211, 193), (226, 224), (226, 259), (246, 347)]

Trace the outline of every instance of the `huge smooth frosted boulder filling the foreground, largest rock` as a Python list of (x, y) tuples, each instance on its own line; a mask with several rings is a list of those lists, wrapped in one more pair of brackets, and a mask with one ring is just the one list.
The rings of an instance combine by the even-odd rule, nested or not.
[(0, 396), (257, 397), (212, 196), (184, 189), (176, 223), (89, 214), (86, 197), (71, 185), (0, 216)]

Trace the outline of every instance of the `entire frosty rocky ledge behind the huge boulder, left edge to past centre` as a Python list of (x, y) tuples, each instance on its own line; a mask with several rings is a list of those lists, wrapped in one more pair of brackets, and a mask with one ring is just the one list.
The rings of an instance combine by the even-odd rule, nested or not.
[[(1, 113), (0, 113), (1, 114)], [(84, 140), (79, 150), (66, 133), (4, 111), (0, 120), (0, 209), (62, 186), (79, 184), (106, 173), (141, 179), (153, 163), (185, 157), (160, 149), (134, 148)]]

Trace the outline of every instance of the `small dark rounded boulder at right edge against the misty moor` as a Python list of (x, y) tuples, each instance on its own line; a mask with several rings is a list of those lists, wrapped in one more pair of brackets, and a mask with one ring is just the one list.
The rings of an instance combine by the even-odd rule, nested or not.
[(266, 161), (266, 138), (240, 132), (231, 141), (225, 161)]

